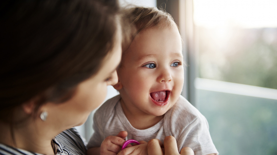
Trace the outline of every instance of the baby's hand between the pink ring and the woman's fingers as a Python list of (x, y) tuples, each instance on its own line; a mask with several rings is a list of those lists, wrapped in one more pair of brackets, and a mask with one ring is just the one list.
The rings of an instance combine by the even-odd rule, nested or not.
[(134, 144), (132, 147), (123, 149), (118, 155), (148, 155), (147, 142), (139, 141), (140, 145)]

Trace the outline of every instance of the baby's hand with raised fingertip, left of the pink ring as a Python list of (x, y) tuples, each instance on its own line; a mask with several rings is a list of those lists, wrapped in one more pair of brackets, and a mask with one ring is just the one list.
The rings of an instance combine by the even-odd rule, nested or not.
[(127, 136), (126, 131), (121, 131), (117, 136), (108, 136), (102, 142), (100, 147), (100, 155), (117, 155), (121, 150), (125, 137)]

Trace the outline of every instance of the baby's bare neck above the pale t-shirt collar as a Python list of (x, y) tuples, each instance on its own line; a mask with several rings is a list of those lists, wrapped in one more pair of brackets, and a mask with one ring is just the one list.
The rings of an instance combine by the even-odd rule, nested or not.
[(154, 116), (154, 115), (149, 115), (141, 112), (139, 113), (139, 112), (132, 111), (126, 107), (122, 99), (121, 99), (121, 107), (130, 124), (134, 128), (139, 130), (144, 130), (154, 126), (160, 120), (162, 120), (164, 116), (164, 115)]

